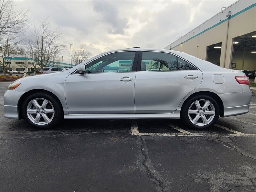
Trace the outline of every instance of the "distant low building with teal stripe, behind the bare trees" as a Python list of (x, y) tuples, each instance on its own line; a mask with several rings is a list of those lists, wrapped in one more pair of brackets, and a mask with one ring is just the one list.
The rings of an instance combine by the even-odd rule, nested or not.
[[(0, 57), (0, 60), (2, 61), (3, 58)], [(10, 69), (14, 70), (14, 71), (18, 71), (20, 73), (23, 73), (23, 68), (25, 68), (26, 72), (34, 72), (34, 67), (33, 67), (33, 63), (32, 63), (32, 59), (26, 57), (26, 55), (10, 55), (8, 58), (4, 58), (4, 62), (5, 62), (5, 70)], [(47, 67), (64, 67), (64, 68), (70, 68), (70, 67), (74, 67), (75, 65), (72, 64), (72, 66), (69, 63), (62, 63), (62, 62), (54, 62), (52, 63), (51, 61), (49, 61), (49, 63), (47, 64)], [(2, 66), (0, 66), (0, 71), (2, 71), (3, 68)], [(42, 69), (40, 68), (39, 65), (37, 65), (36, 67), (36, 71), (41, 71)]]

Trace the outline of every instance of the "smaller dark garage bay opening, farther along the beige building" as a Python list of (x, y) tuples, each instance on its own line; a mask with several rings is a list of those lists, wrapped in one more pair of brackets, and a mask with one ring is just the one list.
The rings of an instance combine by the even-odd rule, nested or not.
[(221, 42), (207, 47), (206, 60), (220, 66)]

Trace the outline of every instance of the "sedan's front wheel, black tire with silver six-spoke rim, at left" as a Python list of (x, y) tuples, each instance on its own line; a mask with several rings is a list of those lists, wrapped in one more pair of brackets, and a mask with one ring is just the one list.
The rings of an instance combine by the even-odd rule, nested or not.
[(59, 101), (47, 93), (28, 96), (22, 105), (22, 115), (29, 125), (38, 129), (51, 128), (63, 117)]

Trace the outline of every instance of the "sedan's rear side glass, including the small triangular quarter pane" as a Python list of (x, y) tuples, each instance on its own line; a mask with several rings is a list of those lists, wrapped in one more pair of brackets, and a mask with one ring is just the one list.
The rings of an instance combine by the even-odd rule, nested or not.
[(187, 61), (162, 52), (142, 52), (141, 71), (194, 71)]

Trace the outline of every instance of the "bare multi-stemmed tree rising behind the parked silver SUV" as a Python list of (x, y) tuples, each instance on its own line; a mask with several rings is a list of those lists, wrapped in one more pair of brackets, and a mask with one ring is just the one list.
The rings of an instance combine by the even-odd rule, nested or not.
[(59, 28), (51, 30), (47, 19), (42, 21), (38, 29), (34, 27), (32, 41), (36, 42), (36, 59), (42, 69), (50, 63), (54, 55), (60, 54), (65, 48), (65, 45), (59, 41), (61, 34)]

